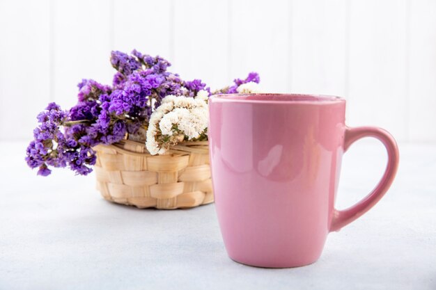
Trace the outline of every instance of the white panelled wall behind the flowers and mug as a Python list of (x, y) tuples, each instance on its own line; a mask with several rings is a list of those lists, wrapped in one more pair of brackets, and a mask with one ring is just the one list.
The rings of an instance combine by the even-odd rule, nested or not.
[(350, 126), (436, 142), (435, 0), (0, 0), (0, 140), (134, 48), (212, 88), (257, 71), (271, 92), (340, 95)]

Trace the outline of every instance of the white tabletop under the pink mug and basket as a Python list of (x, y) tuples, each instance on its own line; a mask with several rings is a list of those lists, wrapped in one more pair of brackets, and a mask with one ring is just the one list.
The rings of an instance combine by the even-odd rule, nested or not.
[[(231, 261), (215, 207), (159, 211), (111, 204), (93, 174), (37, 177), (24, 143), (0, 143), (0, 289), (436, 289), (436, 145), (400, 145), (394, 185), (329, 234), (310, 266)], [(359, 200), (386, 161), (362, 141), (344, 156), (338, 207)]]

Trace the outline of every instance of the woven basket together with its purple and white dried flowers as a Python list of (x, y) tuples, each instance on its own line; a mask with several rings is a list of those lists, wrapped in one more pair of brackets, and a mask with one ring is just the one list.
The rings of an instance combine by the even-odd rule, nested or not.
[(111, 86), (79, 83), (78, 102), (55, 103), (38, 115), (26, 162), (47, 176), (67, 167), (87, 175), (112, 202), (176, 209), (213, 201), (208, 161), (208, 97), (255, 92), (256, 73), (211, 91), (200, 79), (184, 81), (164, 58), (111, 52)]

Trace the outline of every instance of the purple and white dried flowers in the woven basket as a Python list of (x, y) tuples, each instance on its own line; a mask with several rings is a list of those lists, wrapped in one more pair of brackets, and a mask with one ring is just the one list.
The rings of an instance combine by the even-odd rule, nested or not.
[[(164, 58), (136, 50), (131, 55), (112, 51), (111, 65), (117, 70), (112, 86), (84, 79), (78, 85), (78, 102), (70, 110), (51, 103), (38, 115), (40, 124), (26, 150), (26, 162), (38, 168), (38, 175), (49, 175), (49, 167), (87, 175), (96, 160), (93, 146), (138, 136), (147, 127), (152, 154), (163, 154), (182, 140), (207, 140), (211, 93), (205, 83), (183, 81), (167, 71), (171, 63)], [(258, 82), (258, 74), (252, 72), (213, 93), (249, 92), (257, 90)]]

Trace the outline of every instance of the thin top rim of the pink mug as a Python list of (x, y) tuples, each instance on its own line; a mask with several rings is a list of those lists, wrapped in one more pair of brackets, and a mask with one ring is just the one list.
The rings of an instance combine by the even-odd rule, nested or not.
[(338, 104), (345, 99), (334, 95), (316, 95), (304, 93), (244, 93), (217, 94), (210, 96), (212, 102), (240, 102), (253, 104)]

